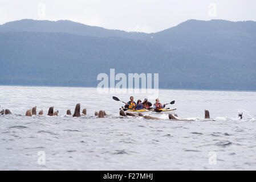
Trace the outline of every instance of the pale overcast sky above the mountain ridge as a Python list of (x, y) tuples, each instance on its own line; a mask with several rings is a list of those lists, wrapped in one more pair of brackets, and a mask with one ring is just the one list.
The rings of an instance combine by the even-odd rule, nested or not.
[(125, 31), (157, 32), (188, 19), (256, 21), (256, 0), (0, 0), (0, 24), (68, 19)]

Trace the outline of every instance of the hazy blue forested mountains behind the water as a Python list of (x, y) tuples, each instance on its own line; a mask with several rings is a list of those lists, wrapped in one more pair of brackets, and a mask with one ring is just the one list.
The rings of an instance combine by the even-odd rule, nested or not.
[(97, 86), (115, 68), (159, 73), (160, 88), (256, 90), (255, 57), (252, 21), (188, 20), (152, 34), (69, 20), (0, 26), (1, 85)]

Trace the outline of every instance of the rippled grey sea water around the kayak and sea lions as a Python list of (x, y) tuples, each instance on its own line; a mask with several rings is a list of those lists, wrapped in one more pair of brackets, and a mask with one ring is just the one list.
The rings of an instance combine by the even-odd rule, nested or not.
[[(175, 100), (169, 106), (192, 122), (169, 121), (167, 115), (161, 120), (119, 118), (123, 104), (113, 95), (129, 98), (98, 94), (95, 88), (0, 86), (1, 109), (13, 113), (0, 115), (0, 169), (256, 169), (256, 92), (160, 90), (160, 101)], [(66, 116), (77, 103), (88, 115)], [(44, 114), (54, 106), (59, 116), (26, 117), (35, 105)], [(111, 116), (94, 117), (101, 109)], [(211, 119), (204, 119), (204, 109)], [(45, 165), (38, 164), (39, 151), (46, 154)]]

